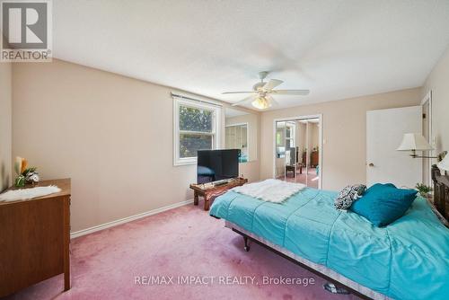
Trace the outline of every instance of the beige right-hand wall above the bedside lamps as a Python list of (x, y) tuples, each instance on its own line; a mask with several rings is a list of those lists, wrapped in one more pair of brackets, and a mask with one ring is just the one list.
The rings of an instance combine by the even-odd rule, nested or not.
[(422, 88), (421, 97), (432, 91), (432, 135), (436, 151), (449, 151), (449, 49), (445, 51)]

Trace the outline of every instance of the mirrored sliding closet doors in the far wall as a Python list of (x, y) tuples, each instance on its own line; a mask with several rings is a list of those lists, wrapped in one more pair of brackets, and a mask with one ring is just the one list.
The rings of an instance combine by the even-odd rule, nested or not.
[(273, 177), (321, 189), (321, 115), (275, 119)]

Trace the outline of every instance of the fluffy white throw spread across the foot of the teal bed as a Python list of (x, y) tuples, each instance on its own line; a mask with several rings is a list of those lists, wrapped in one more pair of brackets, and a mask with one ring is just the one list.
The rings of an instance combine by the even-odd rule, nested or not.
[(263, 201), (280, 203), (305, 188), (304, 184), (268, 179), (233, 188), (233, 191)]

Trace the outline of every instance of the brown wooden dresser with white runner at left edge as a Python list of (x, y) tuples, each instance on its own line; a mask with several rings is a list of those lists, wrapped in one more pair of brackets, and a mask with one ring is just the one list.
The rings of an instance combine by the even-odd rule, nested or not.
[(61, 191), (0, 202), (0, 297), (61, 273), (70, 288), (70, 179), (37, 184), (48, 185)]

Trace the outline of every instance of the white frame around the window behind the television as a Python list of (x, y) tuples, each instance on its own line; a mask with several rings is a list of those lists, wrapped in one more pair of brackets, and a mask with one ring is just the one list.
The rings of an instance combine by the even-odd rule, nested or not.
[(194, 101), (182, 97), (173, 97), (173, 165), (197, 164), (197, 157), (180, 157), (180, 106), (199, 110), (212, 110), (212, 149), (221, 146), (221, 106), (207, 101)]

